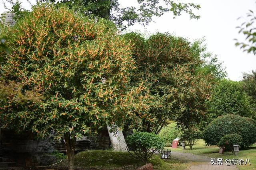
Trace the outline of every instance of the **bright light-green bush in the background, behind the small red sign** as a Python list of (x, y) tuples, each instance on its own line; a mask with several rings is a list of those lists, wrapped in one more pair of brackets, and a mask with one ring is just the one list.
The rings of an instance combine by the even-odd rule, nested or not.
[(164, 139), (165, 143), (172, 143), (172, 141), (178, 137), (179, 133), (180, 129), (178, 129), (177, 124), (170, 123), (166, 127), (163, 127), (158, 135), (161, 139)]

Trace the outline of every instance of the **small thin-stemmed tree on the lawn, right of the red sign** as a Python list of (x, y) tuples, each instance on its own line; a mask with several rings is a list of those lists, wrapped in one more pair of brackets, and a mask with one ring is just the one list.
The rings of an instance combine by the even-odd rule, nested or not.
[(195, 128), (183, 129), (179, 134), (180, 140), (187, 141), (188, 146), (192, 149), (193, 145), (200, 139), (201, 132)]

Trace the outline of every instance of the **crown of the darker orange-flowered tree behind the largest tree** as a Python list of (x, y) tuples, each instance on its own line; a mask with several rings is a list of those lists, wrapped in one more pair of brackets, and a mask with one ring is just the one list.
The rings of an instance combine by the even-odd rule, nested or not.
[(133, 44), (137, 66), (131, 84), (145, 82), (148, 91), (144, 93), (151, 98), (145, 117), (127, 120), (132, 128), (158, 133), (168, 119), (182, 127), (198, 123), (206, 114), (212, 88), (212, 75), (198, 71), (203, 63), (199, 45), (168, 33), (148, 38), (127, 33), (124, 37)]

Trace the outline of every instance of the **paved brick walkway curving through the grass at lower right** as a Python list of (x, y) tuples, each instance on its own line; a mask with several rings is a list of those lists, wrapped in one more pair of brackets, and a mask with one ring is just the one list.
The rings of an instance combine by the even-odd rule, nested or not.
[(172, 156), (184, 162), (188, 162), (191, 165), (188, 170), (239, 170), (234, 165), (211, 165), (211, 158), (207, 156), (198, 156), (191, 153), (175, 151), (172, 151)]

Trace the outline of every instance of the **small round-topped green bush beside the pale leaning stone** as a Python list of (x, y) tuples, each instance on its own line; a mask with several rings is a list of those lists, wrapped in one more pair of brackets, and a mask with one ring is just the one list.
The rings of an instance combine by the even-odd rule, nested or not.
[(126, 137), (127, 150), (132, 156), (145, 164), (156, 150), (164, 148), (164, 140), (158, 135), (148, 132), (136, 132)]

